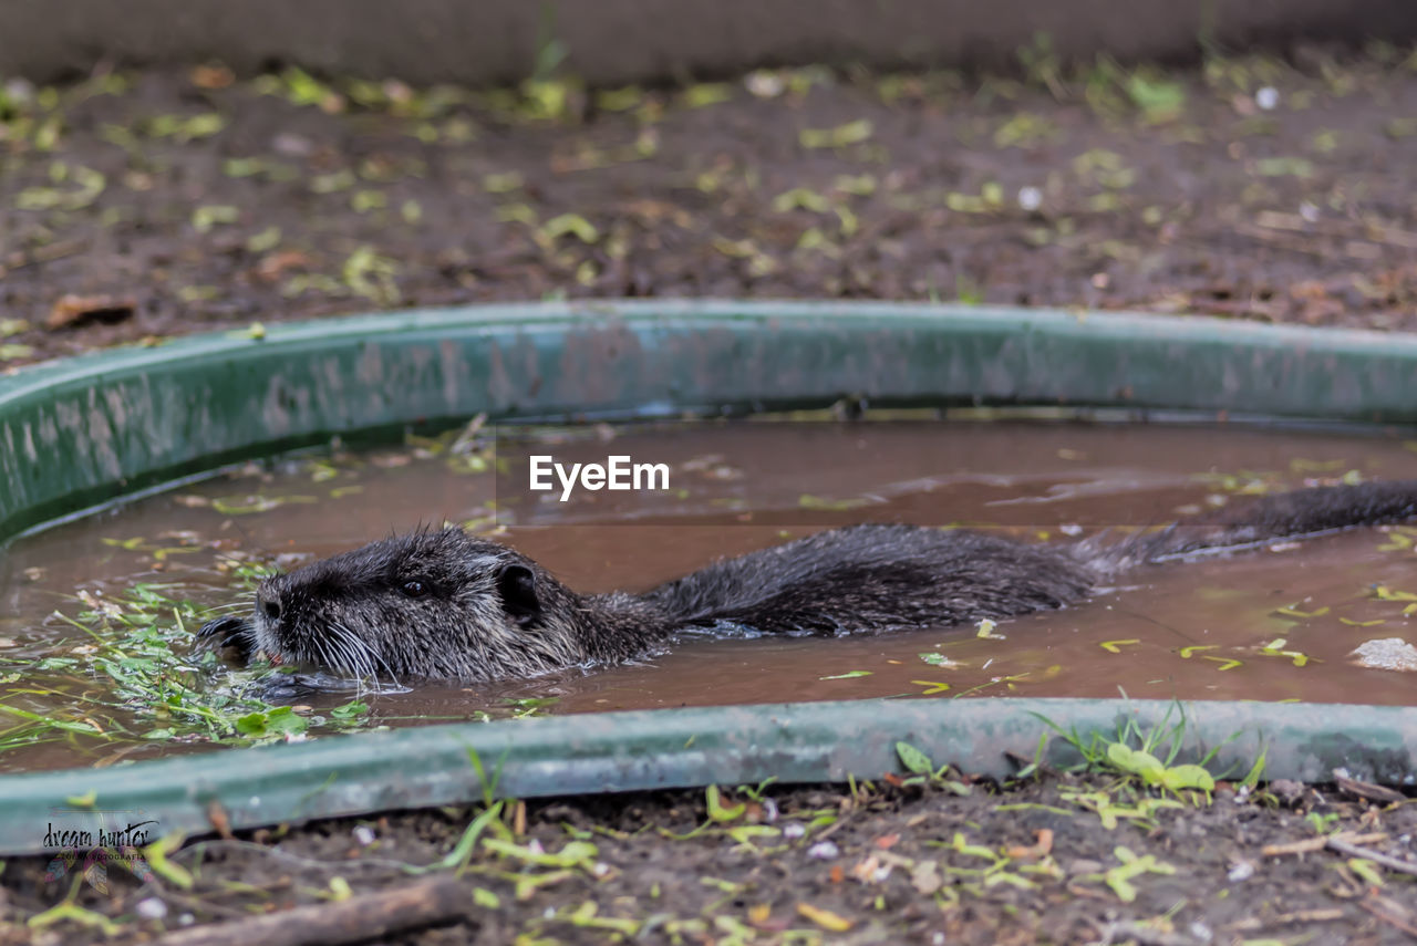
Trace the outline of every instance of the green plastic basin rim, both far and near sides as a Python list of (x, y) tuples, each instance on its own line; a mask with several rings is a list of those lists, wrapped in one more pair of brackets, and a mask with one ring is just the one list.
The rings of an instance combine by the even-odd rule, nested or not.
[[(1417, 422), (1417, 337), (1210, 319), (887, 303), (585, 303), (421, 310), (179, 338), (0, 377), (0, 542), (222, 463), (330, 436), (492, 419), (873, 405), (1044, 405)], [(1047, 729), (1115, 729), (1156, 704), (880, 701), (673, 710), (361, 734), (112, 769), (0, 777), (0, 850), (44, 813), (147, 809), (201, 830), (480, 797), (469, 746), (513, 796), (876, 776), (894, 743), (1005, 775)], [(1417, 710), (1187, 704), (1221, 765), (1411, 783)], [(1061, 748), (1061, 742), (1054, 739)], [(1236, 755), (1247, 748), (1251, 755)], [(1243, 775), (1243, 770), (1240, 772)], [(98, 800), (89, 800), (96, 792)], [(67, 802), (67, 799), (69, 802)], [(78, 806), (84, 809), (84, 806)], [(86, 809), (84, 809), (86, 810)]]

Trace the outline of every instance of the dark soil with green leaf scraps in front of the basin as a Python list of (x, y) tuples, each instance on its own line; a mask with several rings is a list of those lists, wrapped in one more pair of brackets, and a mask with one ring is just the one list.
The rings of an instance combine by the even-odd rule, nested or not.
[[(721, 821), (710, 819), (701, 792), (540, 800), (513, 806), (497, 850), (485, 843), (469, 860), (465, 919), (378, 942), (1410, 942), (1413, 878), (1326, 848), (1325, 837), (1411, 864), (1417, 809), (1272, 787), (1241, 799), (1221, 786), (1213, 803), (1122, 816), (1111, 827), (1078, 799), (1102, 792), (1131, 807), (1138, 796), (1117, 782), (1070, 776), (1003, 789), (896, 787), (887, 779), (854, 793), (769, 787), (761, 802), (727, 792), (720, 802), (733, 813)], [(390, 813), (213, 837), (174, 858), (194, 877), (188, 889), (166, 879), (140, 887), (113, 865), (106, 895), (79, 884), (74, 896), (123, 921), (111, 942), (145, 942), (193, 922), (238, 923), (327, 904), (334, 891), (360, 896), (408, 884), (400, 865), (444, 858), (475, 814)], [(557, 855), (565, 867), (546, 862)], [(44, 879), (47, 864), (7, 865), (0, 889), (11, 916), (35, 915), (68, 892), (74, 878)], [(145, 912), (150, 919), (140, 919)], [(57, 929), (64, 942), (94, 935)], [(9, 936), (28, 942), (31, 933), (10, 926)], [(57, 939), (40, 932), (33, 942)]]

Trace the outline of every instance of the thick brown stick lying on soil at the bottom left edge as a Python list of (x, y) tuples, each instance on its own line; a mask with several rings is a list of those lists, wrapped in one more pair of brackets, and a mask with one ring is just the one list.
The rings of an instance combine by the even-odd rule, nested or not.
[(357, 899), (295, 906), (249, 919), (167, 933), (159, 946), (306, 946), (356, 943), (407, 929), (468, 918), (472, 898), (461, 882), (439, 877)]

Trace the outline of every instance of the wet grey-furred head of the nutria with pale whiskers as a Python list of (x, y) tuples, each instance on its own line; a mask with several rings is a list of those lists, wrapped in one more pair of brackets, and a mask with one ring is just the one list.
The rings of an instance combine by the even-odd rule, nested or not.
[(577, 602), (530, 558), (444, 528), (266, 578), (247, 633), (278, 663), (354, 678), (506, 680), (587, 660)]

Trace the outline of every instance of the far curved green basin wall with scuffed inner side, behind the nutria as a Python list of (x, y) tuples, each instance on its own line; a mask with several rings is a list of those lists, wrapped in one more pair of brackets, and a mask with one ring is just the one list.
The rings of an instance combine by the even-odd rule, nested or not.
[(0, 377), (0, 542), (217, 465), (486, 412), (873, 404), (1417, 421), (1417, 337), (888, 303), (432, 309), (84, 355)]

